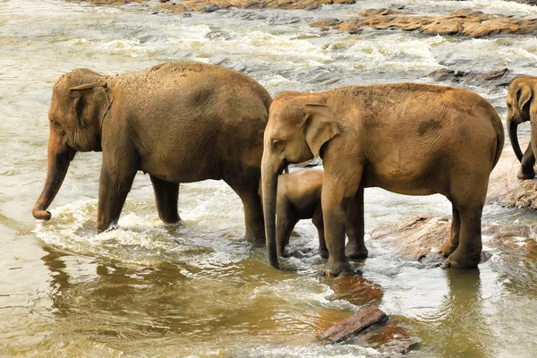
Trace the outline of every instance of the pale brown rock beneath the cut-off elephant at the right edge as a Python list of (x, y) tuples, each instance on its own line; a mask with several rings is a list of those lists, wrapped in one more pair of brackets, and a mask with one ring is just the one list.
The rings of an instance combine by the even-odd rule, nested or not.
[(537, 180), (520, 180), (516, 173), (520, 162), (507, 149), (490, 174), (487, 202), (507, 208), (537, 209)]

